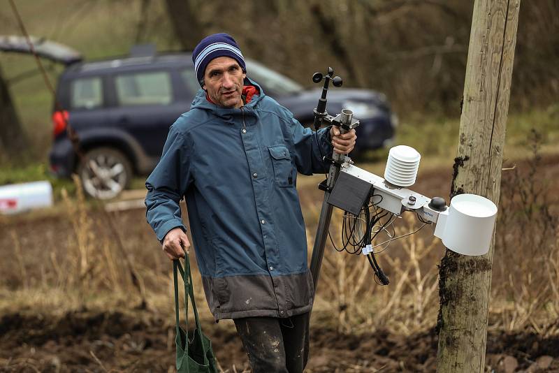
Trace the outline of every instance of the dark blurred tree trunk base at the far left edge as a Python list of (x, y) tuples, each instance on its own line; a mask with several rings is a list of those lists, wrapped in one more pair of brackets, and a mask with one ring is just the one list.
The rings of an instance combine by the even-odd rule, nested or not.
[(0, 161), (21, 154), (27, 145), (20, 119), (17, 118), (13, 101), (0, 69)]

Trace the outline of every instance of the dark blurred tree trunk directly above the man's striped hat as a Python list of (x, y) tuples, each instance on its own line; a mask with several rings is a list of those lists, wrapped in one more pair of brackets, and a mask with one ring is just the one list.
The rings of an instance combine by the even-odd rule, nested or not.
[(194, 50), (194, 47), (205, 36), (200, 24), (200, 17), (194, 11), (192, 1), (166, 0), (167, 11), (175, 34), (184, 50)]

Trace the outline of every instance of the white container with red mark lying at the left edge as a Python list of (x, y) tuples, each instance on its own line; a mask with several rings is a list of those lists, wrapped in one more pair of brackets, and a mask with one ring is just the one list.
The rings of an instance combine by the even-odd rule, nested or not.
[(27, 182), (0, 186), (0, 214), (16, 214), (52, 206), (50, 182)]

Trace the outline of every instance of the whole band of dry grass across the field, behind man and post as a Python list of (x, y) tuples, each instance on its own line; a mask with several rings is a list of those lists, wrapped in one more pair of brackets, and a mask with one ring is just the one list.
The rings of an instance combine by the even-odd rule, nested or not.
[[(546, 177), (535, 176), (542, 166), (537, 147), (533, 153), (525, 166), (528, 169), (518, 166), (503, 177), (490, 328), (529, 328), (550, 335), (559, 332), (557, 202), (549, 200), (551, 185)], [(76, 190), (81, 190), (79, 184)], [(30, 248), (17, 226), (8, 228), (9, 238), (3, 242), (10, 247), (4, 258), (12, 270), (0, 283), (0, 311), (41, 309), (60, 314), (84, 307), (147, 309), (172, 322), (170, 264), (150, 229), (145, 226), (140, 233), (129, 233), (131, 223), (118, 212), (104, 212), (86, 203), (80, 192), (75, 197), (63, 196), (64, 212), (59, 219), (68, 229), (52, 242), (45, 239), (42, 246)], [(312, 247), (320, 203), (314, 199), (308, 203), (308, 196), (304, 199), (307, 240)], [(336, 241), (340, 218), (341, 212), (336, 210), (331, 224)], [(395, 224), (395, 233), (414, 231), (417, 224), (413, 214), (404, 214)], [(122, 225), (127, 228), (121, 229)], [(439, 307), (437, 264), (444, 248), (428, 229), (392, 242), (377, 256), (391, 279), (389, 286), (375, 282), (363, 256), (338, 253), (328, 243), (313, 323), (344, 333), (383, 328), (409, 335), (433, 327)], [(34, 258), (38, 250), (40, 261)], [(212, 316), (197, 271), (194, 281), (201, 316), (209, 321)]]

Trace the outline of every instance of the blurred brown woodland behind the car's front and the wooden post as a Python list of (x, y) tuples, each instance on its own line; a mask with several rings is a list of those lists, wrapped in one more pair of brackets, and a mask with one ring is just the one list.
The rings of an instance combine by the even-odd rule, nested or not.
[[(400, 115), (460, 110), (473, 1), (188, 3), (198, 15), (192, 34), (228, 31), (249, 57), (305, 85), (329, 64), (347, 85), (386, 93)], [(559, 96), (559, 1), (527, 1), (520, 11), (511, 107), (549, 105)], [(184, 32), (176, 35), (188, 49)]]

